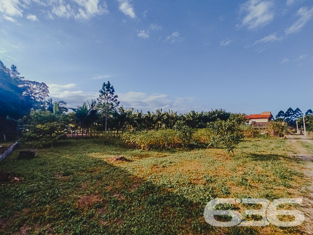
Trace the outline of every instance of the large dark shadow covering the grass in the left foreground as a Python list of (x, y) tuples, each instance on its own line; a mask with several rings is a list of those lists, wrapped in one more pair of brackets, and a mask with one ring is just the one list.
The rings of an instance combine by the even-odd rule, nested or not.
[(175, 193), (123, 167), (91, 158), (89, 150), (82, 149), (61, 144), (58, 154), (41, 149), (38, 158), (22, 164), (14, 152), (1, 163), (0, 168), (25, 180), (1, 185), (0, 224), (5, 224), (0, 234), (259, 234), (258, 229), (208, 225), (203, 210), (214, 192), (208, 190), (203, 203), (196, 203), (188, 189)]

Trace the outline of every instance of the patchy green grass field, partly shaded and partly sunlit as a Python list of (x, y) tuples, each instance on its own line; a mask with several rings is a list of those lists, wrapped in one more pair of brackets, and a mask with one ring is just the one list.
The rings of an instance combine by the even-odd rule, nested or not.
[[(128, 161), (112, 161), (114, 156)], [(203, 219), (213, 198), (296, 198), (307, 193), (302, 162), (286, 140), (245, 139), (223, 149), (142, 151), (99, 140), (59, 142), (31, 160), (0, 162), (0, 234), (301, 234), (302, 226), (218, 228)], [(239, 205), (236, 210), (246, 208)], [(248, 219), (248, 218), (247, 218)]]

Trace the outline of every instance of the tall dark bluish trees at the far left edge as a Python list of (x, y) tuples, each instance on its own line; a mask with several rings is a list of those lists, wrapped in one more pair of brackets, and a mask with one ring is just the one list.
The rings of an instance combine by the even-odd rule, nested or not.
[(15, 65), (10, 70), (0, 61), (0, 133), (12, 131), (7, 117), (20, 119), (32, 108), (39, 109), (49, 94), (45, 83), (29, 81), (19, 75)]

